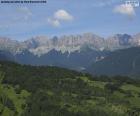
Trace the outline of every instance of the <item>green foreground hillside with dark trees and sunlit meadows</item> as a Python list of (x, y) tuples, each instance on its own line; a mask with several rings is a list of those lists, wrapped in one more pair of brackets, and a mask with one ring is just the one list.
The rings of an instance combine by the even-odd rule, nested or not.
[(0, 62), (0, 116), (139, 115), (139, 80)]

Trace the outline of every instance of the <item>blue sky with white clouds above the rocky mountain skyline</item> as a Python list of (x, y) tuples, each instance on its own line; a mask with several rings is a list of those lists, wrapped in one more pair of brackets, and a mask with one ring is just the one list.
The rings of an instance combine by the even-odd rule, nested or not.
[[(1, 0), (0, 0), (1, 1)], [(132, 0), (131, 0), (132, 1)], [(107, 37), (140, 32), (140, 6), (126, 0), (47, 0), (0, 3), (0, 36), (26, 40), (92, 32)]]

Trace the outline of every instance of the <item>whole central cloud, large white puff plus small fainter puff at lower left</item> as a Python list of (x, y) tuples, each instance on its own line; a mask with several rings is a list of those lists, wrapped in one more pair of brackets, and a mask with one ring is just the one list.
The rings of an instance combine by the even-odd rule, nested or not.
[(53, 27), (60, 27), (62, 22), (68, 22), (74, 20), (74, 17), (66, 10), (57, 10), (52, 17), (48, 18), (48, 24)]

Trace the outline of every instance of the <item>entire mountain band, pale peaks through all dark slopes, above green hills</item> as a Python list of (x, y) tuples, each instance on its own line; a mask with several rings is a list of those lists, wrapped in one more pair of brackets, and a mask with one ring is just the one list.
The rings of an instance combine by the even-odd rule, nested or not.
[(58, 66), (97, 75), (138, 75), (139, 46), (140, 33), (107, 38), (92, 33), (37, 36), (22, 42), (0, 37), (0, 60)]

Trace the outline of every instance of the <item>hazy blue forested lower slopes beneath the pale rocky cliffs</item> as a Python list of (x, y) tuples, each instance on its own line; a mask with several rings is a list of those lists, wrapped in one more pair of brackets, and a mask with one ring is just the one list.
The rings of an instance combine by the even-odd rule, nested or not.
[(0, 60), (15, 61), (20, 64), (30, 65), (48, 65), (59, 66), (78, 71), (85, 70), (91, 63), (105, 57), (109, 54), (108, 51), (96, 51), (90, 48), (86, 48), (81, 51), (75, 51), (72, 53), (62, 53), (57, 50), (51, 50), (47, 54), (36, 56), (28, 50), (24, 50), (19, 54), (11, 54), (6, 51), (0, 52)]

